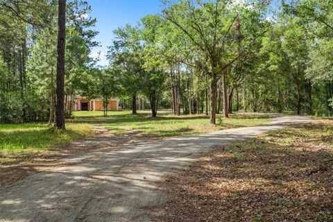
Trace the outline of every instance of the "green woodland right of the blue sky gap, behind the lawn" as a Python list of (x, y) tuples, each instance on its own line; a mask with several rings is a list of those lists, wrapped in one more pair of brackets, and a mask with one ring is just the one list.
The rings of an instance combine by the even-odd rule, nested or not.
[(150, 75), (163, 78), (155, 97), (169, 99), (173, 114), (210, 113), (211, 123), (216, 113), (239, 110), (332, 111), (330, 1), (282, 2), (275, 12), (269, 1), (164, 6), (160, 15), (114, 31), (109, 69), (130, 78), (120, 85), (130, 85), (133, 108), (137, 94), (151, 98), (142, 81)]

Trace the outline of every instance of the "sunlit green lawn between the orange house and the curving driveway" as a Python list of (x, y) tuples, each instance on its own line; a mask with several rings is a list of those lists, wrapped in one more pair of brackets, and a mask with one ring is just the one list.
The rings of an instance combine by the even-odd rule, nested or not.
[[(270, 121), (268, 117), (254, 115), (230, 115), (230, 119), (217, 121), (219, 124), (212, 126), (210, 117), (205, 115), (182, 115), (180, 117), (171, 114), (157, 114), (152, 118), (148, 112), (139, 112), (133, 115), (130, 111), (108, 112), (108, 117), (103, 117), (101, 111), (74, 112), (76, 121), (103, 126), (114, 133), (124, 134), (130, 131), (142, 133), (151, 137), (174, 137), (209, 133), (225, 128), (237, 128), (243, 126), (255, 126)], [(221, 116), (219, 116), (221, 117)]]

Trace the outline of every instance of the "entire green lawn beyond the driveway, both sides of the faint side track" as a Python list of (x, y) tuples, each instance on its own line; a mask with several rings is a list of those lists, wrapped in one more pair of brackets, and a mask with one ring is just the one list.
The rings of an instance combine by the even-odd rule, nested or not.
[(53, 132), (46, 123), (0, 124), (0, 164), (12, 158), (33, 157), (33, 153), (47, 151), (53, 145), (91, 136), (95, 127), (107, 128), (119, 135), (135, 131), (145, 136), (171, 137), (253, 126), (268, 120), (265, 117), (234, 116), (211, 126), (209, 117), (203, 115), (174, 117), (161, 114), (151, 118), (149, 112), (133, 115), (130, 111), (119, 111), (108, 112), (108, 117), (103, 117), (101, 111), (78, 111), (74, 112), (74, 121), (67, 122), (65, 133)]

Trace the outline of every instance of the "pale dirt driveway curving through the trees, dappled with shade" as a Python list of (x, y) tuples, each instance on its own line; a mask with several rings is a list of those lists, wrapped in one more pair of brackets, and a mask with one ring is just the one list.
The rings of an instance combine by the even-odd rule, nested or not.
[(156, 182), (167, 173), (212, 151), (214, 145), (307, 121), (311, 119), (276, 117), (262, 126), (76, 155), (65, 160), (65, 167), (2, 187), (0, 221), (149, 221), (147, 210), (164, 201)]

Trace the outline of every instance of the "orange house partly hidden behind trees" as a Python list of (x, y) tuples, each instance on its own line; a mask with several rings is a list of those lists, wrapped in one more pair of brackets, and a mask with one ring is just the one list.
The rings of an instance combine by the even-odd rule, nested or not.
[[(118, 107), (119, 99), (112, 98), (108, 104), (108, 110), (118, 111), (121, 108)], [(67, 101), (67, 110), (69, 110), (70, 100)], [(83, 96), (76, 96), (71, 104), (71, 110), (73, 111), (103, 111), (103, 100), (91, 99), (88, 100)]]

